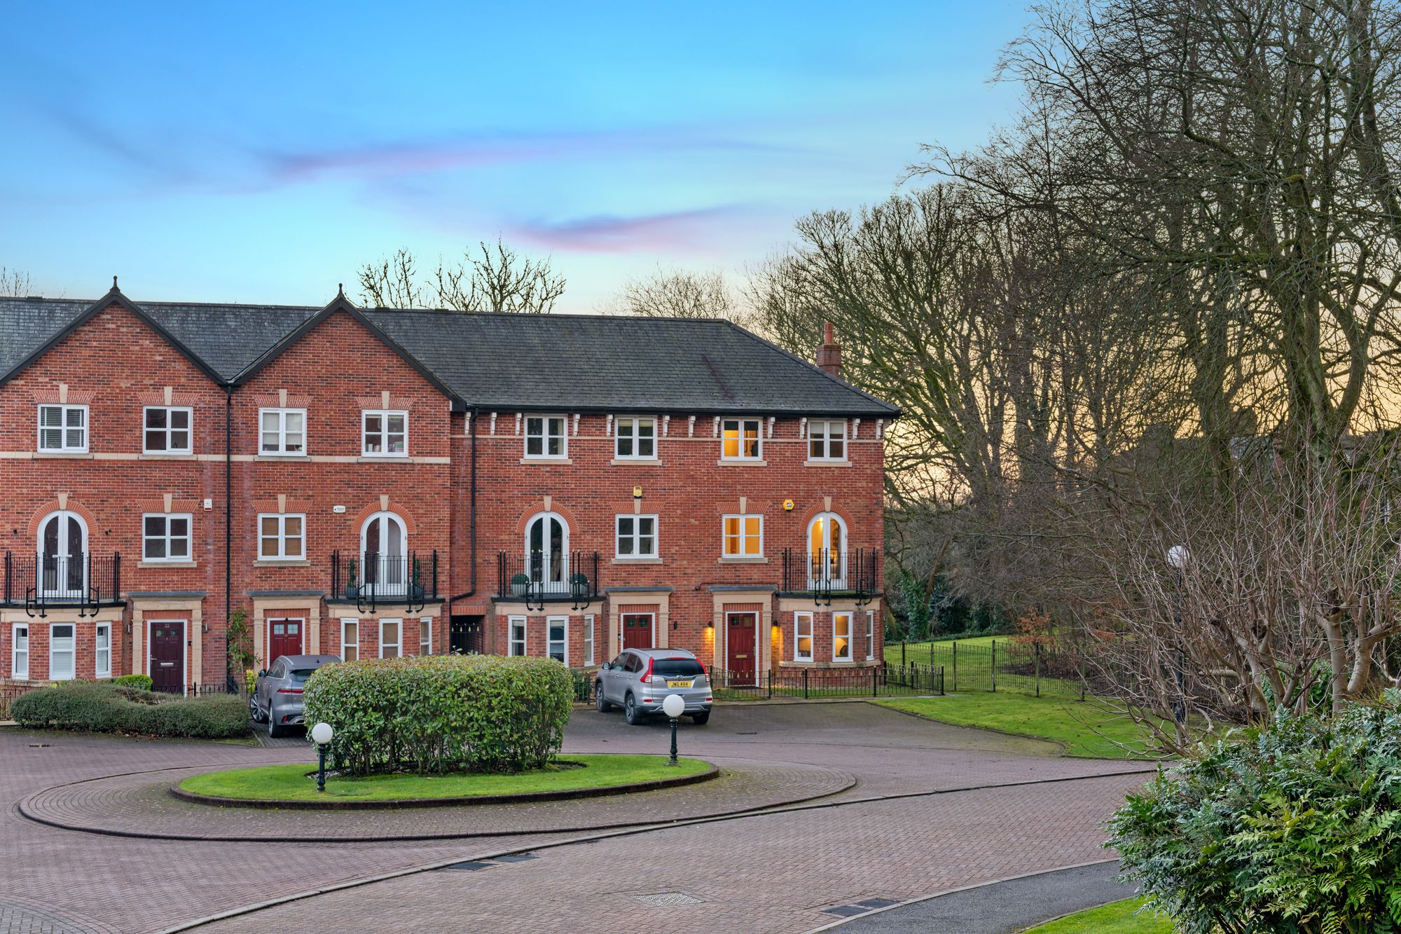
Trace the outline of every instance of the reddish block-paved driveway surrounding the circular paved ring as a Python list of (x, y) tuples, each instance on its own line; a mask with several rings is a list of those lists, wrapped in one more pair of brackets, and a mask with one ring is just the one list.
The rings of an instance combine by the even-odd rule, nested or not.
[[(593, 711), (577, 712), (566, 736), (569, 752), (663, 752), (664, 743), (661, 724), (628, 728)], [(684, 726), (681, 746), (722, 766), (813, 766), (859, 784), (786, 813), (587, 844), (570, 843), (594, 836), (587, 832), (315, 846), (139, 840), (48, 827), (14, 805), (83, 778), (310, 754), (0, 729), (0, 795), (10, 804), (0, 816), (0, 930), (163, 930), (266, 899), (530, 848), (537, 858), (412, 872), (210, 928), (300, 928), (314, 917), (321, 930), (616, 930), (625, 916), (629, 926), (803, 931), (832, 920), (822, 909), (835, 905), (1100, 858), (1098, 823), (1145, 778), (1133, 773), (1142, 766), (1059, 759), (1042, 743), (869, 704), (727, 705), (709, 726)], [(1012, 784), (1044, 780), (1063, 781)], [(934, 791), (947, 794), (880, 799)], [(635, 898), (665, 892), (689, 898), (663, 900), (696, 902), (653, 907)]]

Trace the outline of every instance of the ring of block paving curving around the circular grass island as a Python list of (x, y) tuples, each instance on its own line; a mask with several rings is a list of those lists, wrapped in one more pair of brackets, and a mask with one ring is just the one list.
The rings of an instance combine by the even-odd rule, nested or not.
[(856, 777), (801, 764), (720, 764), (720, 776), (656, 791), (471, 806), (378, 811), (223, 808), (171, 794), (209, 766), (161, 769), (53, 785), (20, 802), (31, 820), (66, 830), (164, 840), (375, 843), (605, 830), (709, 818), (834, 795)]

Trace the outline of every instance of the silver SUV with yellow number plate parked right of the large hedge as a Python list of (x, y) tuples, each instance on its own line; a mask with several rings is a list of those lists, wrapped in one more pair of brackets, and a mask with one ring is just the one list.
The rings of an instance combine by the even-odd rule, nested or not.
[(661, 712), (667, 694), (681, 694), (685, 717), (698, 726), (710, 719), (710, 679), (705, 665), (685, 649), (623, 649), (622, 655), (598, 666), (594, 682), (598, 712), (622, 705), (633, 726)]

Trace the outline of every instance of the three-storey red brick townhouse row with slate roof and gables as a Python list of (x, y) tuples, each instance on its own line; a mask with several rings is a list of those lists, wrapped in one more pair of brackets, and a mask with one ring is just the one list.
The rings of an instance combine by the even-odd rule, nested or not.
[(0, 299), (0, 679), (881, 659), (897, 411), (723, 321)]

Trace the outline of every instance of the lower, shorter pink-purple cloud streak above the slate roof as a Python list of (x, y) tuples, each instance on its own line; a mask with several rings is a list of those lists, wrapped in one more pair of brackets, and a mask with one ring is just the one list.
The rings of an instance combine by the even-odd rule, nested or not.
[(517, 222), (511, 231), (523, 240), (562, 252), (646, 252), (713, 244), (717, 229), (734, 224), (743, 213), (741, 208), (730, 205), (633, 217), (594, 215), (572, 220)]

